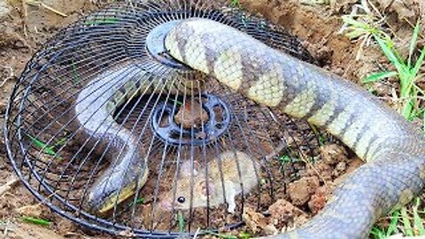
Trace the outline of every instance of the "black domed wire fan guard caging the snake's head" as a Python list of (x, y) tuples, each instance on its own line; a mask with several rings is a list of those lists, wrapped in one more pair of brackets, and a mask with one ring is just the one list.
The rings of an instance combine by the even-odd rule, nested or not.
[[(35, 197), (83, 226), (112, 234), (151, 237), (193, 233), (198, 228), (236, 227), (240, 225), (244, 207), (265, 210), (282, 197), (290, 181), (287, 172), (291, 163), (295, 159), (314, 158), (316, 137), (305, 122), (260, 107), (214, 79), (205, 79), (185, 66), (175, 65), (166, 56), (152, 56), (148, 44), (153, 44), (155, 50), (158, 41), (146, 39), (156, 27), (192, 17), (220, 21), (275, 49), (313, 61), (298, 40), (280, 27), (206, 1), (135, 1), (90, 14), (60, 31), (35, 54), (13, 90), (6, 112), (9, 158)], [(89, 122), (75, 123), (75, 109), (84, 103), (77, 98), (90, 84), (111, 77), (114, 69), (128, 64), (134, 67), (112, 77), (120, 77), (125, 85), (132, 81), (127, 77), (131, 75), (155, 89), (139, 92), (110, 113), (116, 124), (135, 135), (138, 149), (143, 151), (149, 166), (148, 180), (137, 185), (135, 194), (127, 200), (115, 202), (109, 212), (94, 213), (87, 209), (90, 187), (105, 176), (105, 170), (114, 162), (105, 155), (108, 152), (105, 147), (109, 146), (98, 146), (102, 142), (96, 138), (91, 142), (78, 139), (84, 135), (90, 137), (85, 134), (85, 123)], [(194, 87), (185, 89), (183, 81), (188, 79)], [(109, 88), (114, 86), (103, 85), (86, 92), (89, 96), (99, 96), (97, 103), (87, 108), (104, 107), (110, 99), (100, 96)], [(164, 119), (173, 121), (182, 113), (181, 121), (184, 121), (184, 113), (199, 114), (197, 105), (213, 100), (216, 103), (210, 110), (214, 119), (209, 112), (206, 119), (200, 117), (200, 126), (183, 127), (181, 122), (176, 124), (180, 131), (161, 134), (158, 130)], [(96, 112), (92, 113), (97, 116)], [(214, 124), (213, 129), (222, 134), (208, 138), (205, 128), (211, 120), (220, 123)], [(104, 124), (112, 123), (104, 119)], [(242, 151), (260, 162), (255, 167), (258, 185), (249, 194), (236, 197), (236, 212), (231, 217), (226, 216), (229, 202), (213, 207), (211, 196), (204, 207), (193, 206), (200, 197), (195, 186), (200, 179), (197, 172), (206, 172), (208, 177), (209, 168), (213, 172), (211, 168), (217, 167), (218, 175), (211, 176), (223, 181), (228, 171), (220, 156), (226, 151)], [(236, 162), (239, 159), (236, 157)], [(239, 177), (242, 177), (240, 172)], [(161, 200), (166, 195), (178, 200), (184, 179), (189, 180), (186, 187), (189, 210), (178, 210), (175, 206), (164, 210)], [(221, 186), (226, 194), (225, 183)]]

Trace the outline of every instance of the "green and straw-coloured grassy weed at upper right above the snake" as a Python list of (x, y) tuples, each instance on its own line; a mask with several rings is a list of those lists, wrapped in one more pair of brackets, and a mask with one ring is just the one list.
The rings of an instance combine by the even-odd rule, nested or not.
[[(363, 9), (366, 9), (364, 5)], [(370, 41), (371, 38), (378, 43), (383, 54), (395, 68), (394, 71), (382, 71), (371, 73), (363, 80), (363, 83), (381, 81), (390, 77), (397, 77), (400, 84), (398, 98), (401, 102), (399, 112), (407, 119), (413, 120), (420, 117), (423, 109), (419, 109), (419, 96), (425, 96), (423, 89), (420, 89), (415, 81), (419, 78), (419, 72), (425, 58), (425, 48), (421, 49), (421, 54), (415, 62), (413, 62), (413, 53), (416, 49), (421, 26), (418, 23), (413, 29), (413, 36), (409, 46), (409, 56), (404, 59), (395, 47), (395, 43), (391, 40), (390, 35), (386, 34), (379, 27), (383, 19), (378, 20), (372, 14), (351, 14), (343, 16), (344, 23), (347, 25), (346, 34), (350, 39), (362, 38), (364, 41)]]

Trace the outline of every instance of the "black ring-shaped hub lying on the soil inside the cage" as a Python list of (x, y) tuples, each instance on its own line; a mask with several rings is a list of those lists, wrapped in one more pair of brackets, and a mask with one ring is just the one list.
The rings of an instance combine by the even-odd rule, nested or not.
[(174, 121), (174, 115), (178, 111), (174, 103), (159, 104), (152, 115), (153, 132), (163, 142), (174, 146), (213, 143), (230, 125), (228, 104), (218, 96), (204, 94), (201, 106), (208, 114), (208, 120), (200, 127), (184, 128)]

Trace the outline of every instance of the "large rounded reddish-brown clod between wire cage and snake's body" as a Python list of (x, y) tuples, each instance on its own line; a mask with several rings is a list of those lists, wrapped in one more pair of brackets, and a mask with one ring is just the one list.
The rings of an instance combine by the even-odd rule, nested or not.
[(290, 183), (288, 194), (292, 204), (304, 205), (318, 187), (319, 179), (316, 176), (304, 177)]

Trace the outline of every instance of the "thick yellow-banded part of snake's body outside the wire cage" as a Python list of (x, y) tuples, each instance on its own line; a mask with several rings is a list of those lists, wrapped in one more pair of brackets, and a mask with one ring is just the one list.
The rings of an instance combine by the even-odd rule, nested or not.
[(367, 160), (323, 212), (277, 237), (364, 238), (375, 220), (423, 189), (420, 131), (355, 84), (208, 19), (183, 20), (167, 35), (166, 49), (259, 104), (325, 127)]

